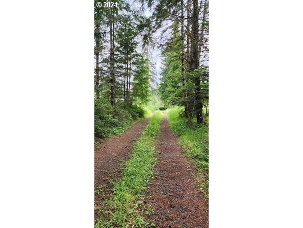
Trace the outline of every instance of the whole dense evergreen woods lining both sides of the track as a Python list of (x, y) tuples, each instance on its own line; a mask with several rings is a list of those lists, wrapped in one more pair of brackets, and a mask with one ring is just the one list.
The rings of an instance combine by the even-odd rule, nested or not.
[[(118, 133), (143, 117), (152, 93), (165, 106), (183, 106), (188, 123), (206, 124), (208, 1), (117, 3), (95, 7), (95, 134)], [(158, 88), (151, 86), (159, 81), (154, 47), (163, 57)]]

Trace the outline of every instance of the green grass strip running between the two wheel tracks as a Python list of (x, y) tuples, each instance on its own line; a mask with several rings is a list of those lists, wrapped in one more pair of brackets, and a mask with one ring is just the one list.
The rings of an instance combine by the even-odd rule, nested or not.
[[(114, 192), (103, 209), (109, 219), (97, 219), (95, 228), (150, 225), (144, 221), (137, 209), (143, 205), (141, 194), (146, 189), (156, 164), (155, 140), (160, 122), (160, 112), (156, 112), (142, 132), (141, 138), (135, 143), (129, 160), (124, 163), (121, 179), (114, 185)], [(147, 213), (150, 213), (150, 209)]]

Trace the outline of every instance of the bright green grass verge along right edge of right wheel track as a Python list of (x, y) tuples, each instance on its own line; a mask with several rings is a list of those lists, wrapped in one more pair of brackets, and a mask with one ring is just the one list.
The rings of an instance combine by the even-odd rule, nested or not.
[(188, 125), (180, 116), (180, 107), (166, 110), (171, 129), (179, 136), (179, 144), (198, 167), (196, 182), (199, 190), (208, 200), (208, 125), (192, 123)]

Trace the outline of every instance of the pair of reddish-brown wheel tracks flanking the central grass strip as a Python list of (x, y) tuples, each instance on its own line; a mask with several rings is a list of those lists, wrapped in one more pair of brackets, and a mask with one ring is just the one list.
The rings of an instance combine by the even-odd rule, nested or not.
[[(162, 118), (155, 142), (157, 164), (153, 169), (154, 177), (142, 192), (140, 201), (143, 204), (138, 207), (147, 222), (139, 222), (141, 225), (138, 226), (130, 223), (128, 227), (208, 227), (208, 205), (194, 181), (196, 168), (182, 153), (178, 138), (163, 112)], [(148, 119), (136, 123), (124, 134), (100, 143), (95, 150), (95, 219), (110, 219), (105, 203), (113, 192), (114, 183), (120, 179), (122, 164), (129, 158), (147, 123)]]

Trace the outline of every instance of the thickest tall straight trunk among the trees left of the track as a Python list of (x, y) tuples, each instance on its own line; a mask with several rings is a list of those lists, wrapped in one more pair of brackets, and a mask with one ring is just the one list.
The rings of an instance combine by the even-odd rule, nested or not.
[(113, 11), (112, 18), (110, 19), (110, 100), (111, 105), (115, 105), (116, 97), (115, 97), (115, 13)]

